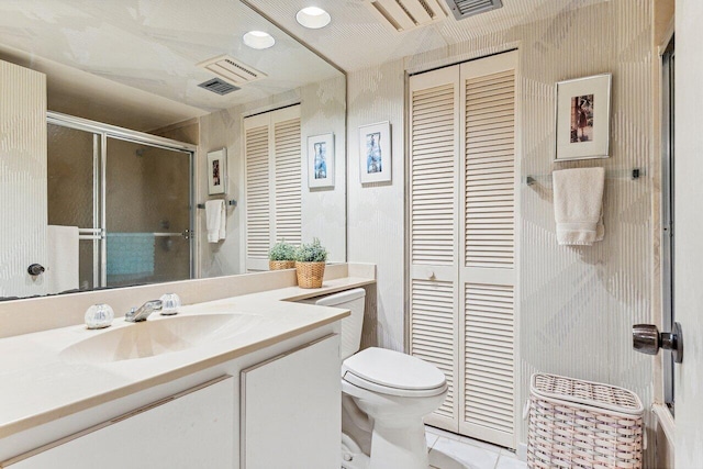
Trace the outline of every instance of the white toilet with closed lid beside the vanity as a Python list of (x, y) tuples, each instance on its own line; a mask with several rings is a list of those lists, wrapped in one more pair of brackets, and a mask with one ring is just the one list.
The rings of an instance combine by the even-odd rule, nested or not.
[(410, 355), (358, 351), (365, 295), (358, 288), (314, 301), (352, 312), (342, 321), (342, 467), (427, 469), (423, 417), (444, 402), (446, 378)]

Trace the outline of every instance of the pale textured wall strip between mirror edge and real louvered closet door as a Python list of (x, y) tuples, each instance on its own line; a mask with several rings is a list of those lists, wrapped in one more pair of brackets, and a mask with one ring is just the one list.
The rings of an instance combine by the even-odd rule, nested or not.
[[(348, 76), (349, 258), (378, 265), (379, 345), (403, 349), (403, 256), (405, 165), (402, 60)], [(390, 121), (391, 183), (361, 186), (359, 126)]]

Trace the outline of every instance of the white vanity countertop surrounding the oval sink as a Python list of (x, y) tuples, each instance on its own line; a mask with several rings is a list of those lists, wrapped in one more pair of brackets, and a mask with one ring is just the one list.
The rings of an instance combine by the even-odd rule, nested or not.
[[(107, 330), (75, 325), (0, 339), (0, 438), (232, 360), (348, 315), (335, 308), (292, 301), (375, 282), (345, 277), (321, 289), (289, 287), (181, 308), (180, 315), (246, 313), (267, 320), (245, 334), (148, 358), (89, 364), (60, 353), (116, 327), (140, 327), (115, 319)], [(168, 321), (155, 313), (148, 321)]]

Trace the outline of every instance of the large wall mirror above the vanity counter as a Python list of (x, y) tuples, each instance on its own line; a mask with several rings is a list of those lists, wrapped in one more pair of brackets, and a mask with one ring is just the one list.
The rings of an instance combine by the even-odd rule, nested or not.
[[(253, 31), (270, 36), (254, 33), (245, 40)], [(286, 109), (297, 109), (297, 133), (290, 134), (286, 122), (279, 129), (272, 119), (269, 138), (272, 145), (293, 138), (292, 148), (300, 149), (293, 171), (300, 186), (300, 228), (288, 241), (319, 237), (330, 261), (346, 260), (346, 77), (246, 2), (0, 2), (0, 60), (46, 76), (49, 116), (48, 156), (21, 169), (40, 178), (43, 188), (0, 200), (0, 220), (13, 225), (0, 231), (0, 300), (261, 268), (264, 259), (253, 260), (260, 249), (250, 248), (256, 175), (246, 150), (247, 142), (249, 147), (254, 142), (246, 122)], [(120, 129), (135, 133), (120, 134)], [(334, 183), (325, 187), (309, 185), (308, 139), (319, 135), (332, 135)], [(208, 154), (223, 148), (224, 192), (212, 193)], [(280, 155), (271, 155), (268, 223), (274, 244), (289, 233), (286, 228), (276, 235), (277, 216), (289, 216), (297, 197), (279, 188), (286, 177), (276, 178), (277, 166), (290, 170), (290, 155), (280, 165)], [(22, 166), (22, 156), (1, 156), (0, 177), (12, 180), (8, 171)], [(3, 190), (13, 193), (9, 186)], [(115, 199), (120, 193), (124, 199)], [(226, 235), (213, 243), (207, 236), (205, 210), (198, 205), (215, 199), (236, 201), (236, 206), (226, 205)], [(79, 212), (78, 206), (86, 209)], [(96, 228), (101, 217), (112, 233)], [(23, 230), (30, 219), (40, 219), (42, 226)], [(34, 263), (54, 273), (60, 270), (51, 265), (47, 248), (37, 247), (52, 224), (81, 228), (77, 286), (52, 289), (46, 276), (27, 271)], [(118, 247), (124, 254), (116, 255)], [(20, 264), (13, 256), (23, 256)], [(112, 265), (99, 272), (101, 261)], [(131, 269), (150, 276), (134, 276)]]

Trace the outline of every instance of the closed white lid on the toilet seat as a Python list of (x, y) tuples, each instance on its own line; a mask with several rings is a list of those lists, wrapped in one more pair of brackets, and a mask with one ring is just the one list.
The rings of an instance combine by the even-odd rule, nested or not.
[(386, 348), (370, 347), (342, 364), (342, 375), (349, 371), (367, 381), (389, 388), (429, 390), (446, 383), (445, 375), (420, 358)]

